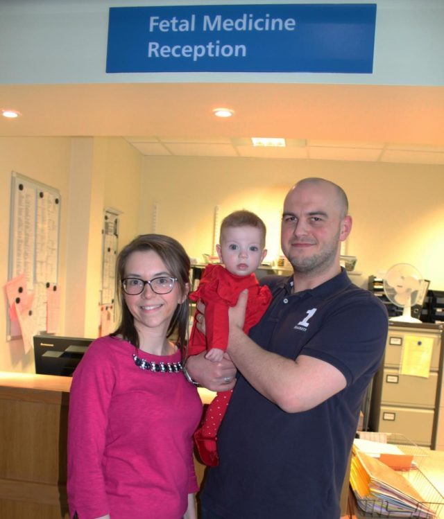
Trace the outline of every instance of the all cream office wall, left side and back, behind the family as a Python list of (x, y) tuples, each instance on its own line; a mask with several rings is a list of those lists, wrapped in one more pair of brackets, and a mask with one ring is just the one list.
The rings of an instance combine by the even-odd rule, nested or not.
[[(8, 279), (10, 173), (16, 170), (60, 190), (61, 335), (98, 330), (101, 219), (105, 207), (122, 211), (119, 246), (153, 230), (180, 240), (190, 256), (211, 253), (214, 207), (220, 216), (245, 207), (268, 227), (269, 258), (279, 254), (280, 212), (289, 186), (321, 176), (345, 188), (354, 228), (348, 254), (358, 257), (353, 281), (393, 263), (412, 263), (444, 290), (444, 166), (365, 162), (144, 157), (120, 138), (0, 137), (0, 280)], [(140, 200), (140, 202), (139, 202)], [(80, 210), (79, 210), (80, 208)], [(77, 292), (76, 292), (77, 290)], [(6, 315), (6, 299), (0, 303)], [(0, 319), (6, 337), (6, 319)], [(2, 341), (3, 342), (3, 341)], [(3, 342), (0, 370), (34, 369), (21, 340)]]

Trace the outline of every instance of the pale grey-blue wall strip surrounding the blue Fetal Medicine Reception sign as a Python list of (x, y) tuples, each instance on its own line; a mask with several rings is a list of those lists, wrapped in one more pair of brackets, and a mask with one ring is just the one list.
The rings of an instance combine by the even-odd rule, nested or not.
[[(280, 0), (293, 3), (294, 0)], [(15, 0), (0, 2), (1, 83), (264, 82), (260, 73), (105, 73), (110, 7), (220, 4), (220, 0)], [(239, 0), (230, 3), (273, 3)], [(339, 3), (296, 0), (296, 3)], [(341, 0), (368, 3), (368, 0)], [(372, 74), (270, 73), (267, 82), (443, 85), (442, 0), (375, 0)], [(13, 45), (10, 42), (14, 42)], [(54, 45), (57, 42), (57, 45)]]

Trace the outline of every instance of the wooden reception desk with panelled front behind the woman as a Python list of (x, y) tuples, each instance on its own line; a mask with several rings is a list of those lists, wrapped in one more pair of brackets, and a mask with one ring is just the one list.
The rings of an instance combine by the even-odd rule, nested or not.
[[(0, 518), (69, 518), (70, 386), (69, 377), (0, 372)], [(203, 403), (214, 396), (199, 394)]]

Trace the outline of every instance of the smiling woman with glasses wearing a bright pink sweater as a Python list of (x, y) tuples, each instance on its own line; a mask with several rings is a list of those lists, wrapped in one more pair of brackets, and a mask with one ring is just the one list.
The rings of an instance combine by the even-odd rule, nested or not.
[(119, 254), (117, 283), (119, 327), (92, 342), (71, 386), (71, 517), (196, 519), (192, 434), (202, 405), (181, 364), (189, 258), (173, 238), (138, 236)]

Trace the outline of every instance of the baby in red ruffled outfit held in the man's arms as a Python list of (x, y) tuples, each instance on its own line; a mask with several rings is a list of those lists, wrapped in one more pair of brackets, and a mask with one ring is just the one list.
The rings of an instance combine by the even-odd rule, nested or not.
[[(190, 299), (205, 304), (205, 335), (196, 328), (195, 316), (189, 338), (188, 355), (207, 350), (205, 358), (219, 362), (228, 345), (228, 309), (248, 289), (244, 332), (259, 322), (271, 301), (271, 292), (260, 286), (255, 270), (266, 255), (264, 222), (250, 211), (235, 211), (221, 224), (216, 252), (223, 265), (207, 265), (200, 284)], [(220, 392), (209, 405), (203, 423), (194, 434), (200, 459), (208, 466), (219, 463), (216, 441), (219, 425), (232, 392)]]

